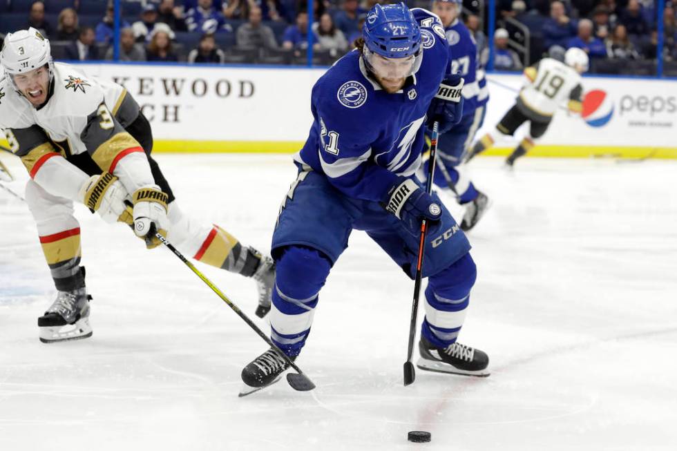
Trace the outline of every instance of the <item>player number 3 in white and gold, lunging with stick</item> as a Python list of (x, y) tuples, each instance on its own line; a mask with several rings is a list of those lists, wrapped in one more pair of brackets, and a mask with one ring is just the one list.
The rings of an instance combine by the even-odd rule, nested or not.
[(30, 174), (26, 202), (57, 288), (38, 319), (40, 340), (92, 334), (73, 202), (106, 222), (130, 225), (149, 248), (160, 244), (157, 230), (196, 260), (254, 278), (257, 314), (264, 316), (274, 262), (224, 229), (182, 213), (151, 157), (151, 126), (133, 97), (118, 84), (54, 64), (49, 41), (34, 28), (10, 33), (4, 44), (0, 128)]

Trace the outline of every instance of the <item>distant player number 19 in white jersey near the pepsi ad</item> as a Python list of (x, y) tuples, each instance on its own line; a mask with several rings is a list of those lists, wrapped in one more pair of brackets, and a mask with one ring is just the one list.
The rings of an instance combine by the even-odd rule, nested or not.
[(544, 58), (535, 66), (524, 69), (528, 83), (519, 91), (515, 105), (503, 116), (495, 131), (487, 133), (475, 143), (466, 162), (493, 146), (502, 135), (513, 135), (520, 125), (529, 121), (531, 124), (527, 135), (506, 160), (507, 167), (512, 168), (515, 160), (530, 151), (534, 140), (546, 132), (555, 111), (565, 101), (569, 111), (582, 111), (581, 74), (587, 70), (588, 55), (575, 47), (566, 50), (564, 63)]

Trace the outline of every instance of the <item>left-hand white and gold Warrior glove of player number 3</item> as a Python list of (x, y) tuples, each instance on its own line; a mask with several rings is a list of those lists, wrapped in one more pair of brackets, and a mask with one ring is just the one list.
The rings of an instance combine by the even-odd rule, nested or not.
[(124, 189), (120, 180), (115, 175), (104, 172), (101, 175), (93, 175), (81, 187), (79, 199), (94, 213), (99, 213), (101, 218), (111, 224), (121, 220), (126, 211), (124, 204), (127, 198), (127, 190)]

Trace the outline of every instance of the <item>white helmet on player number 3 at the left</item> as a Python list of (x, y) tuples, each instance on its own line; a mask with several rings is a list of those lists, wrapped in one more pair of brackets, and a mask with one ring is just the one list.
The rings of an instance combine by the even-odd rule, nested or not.
[(9, 33), (0, 52), (0, 64), (9, 79), (48, 65), (51, 81), (54, 70), (49, 39), (32, 27)]

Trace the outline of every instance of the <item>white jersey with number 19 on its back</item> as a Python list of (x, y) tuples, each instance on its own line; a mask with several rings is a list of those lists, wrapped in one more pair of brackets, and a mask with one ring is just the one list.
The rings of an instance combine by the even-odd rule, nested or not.
[(517, 106), (523, 113), (541, 121), (550, 120), (565, 102), (571, 111), (580, 112), (581, 76), (573, 68), (552, 58), (544, 58), (536, 66), (526, 68), (531, 81), (519, 92)]

